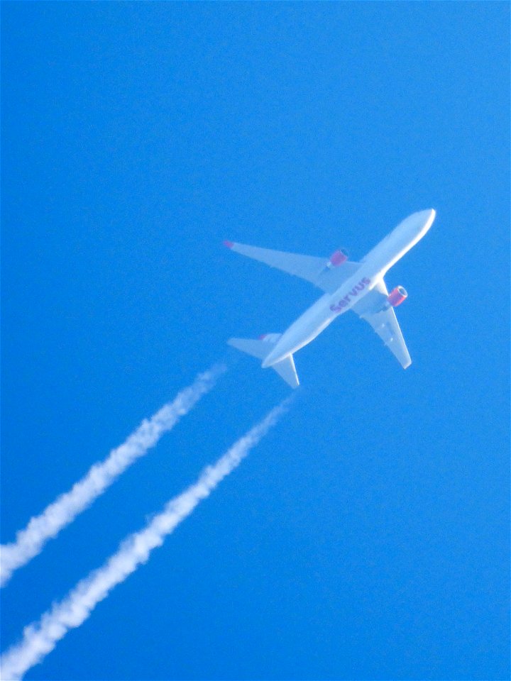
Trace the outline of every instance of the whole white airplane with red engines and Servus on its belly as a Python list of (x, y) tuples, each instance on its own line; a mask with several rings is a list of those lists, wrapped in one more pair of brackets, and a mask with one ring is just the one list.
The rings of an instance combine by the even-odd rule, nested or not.
[(290, 387), (296, 388), (300, 381), (293, 354), (314, 341), (336, 317), (353, 310), (370, 323), (406, 369), (412, 360), (394, 309), (408, 294), (402, 286), (389, 293), (383, 277), (422, 239), (435, 216), (433, 209), (408, 216), (360, 262), (348, 260), (344, 250), (336, 250), (326, 259), (224, 241), (224, 245), (235, 253), (307, 279), (324, 292), (284, 333), (266, 333), (258, 340), (230, 338), (227, 342), (233, 348), (263, 360), (263, 369), (272, 367)]

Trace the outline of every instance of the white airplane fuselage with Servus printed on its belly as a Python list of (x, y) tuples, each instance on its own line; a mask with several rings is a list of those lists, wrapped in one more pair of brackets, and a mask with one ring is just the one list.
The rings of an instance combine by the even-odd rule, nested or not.
[[(340, 314), (358, 303), (432, 226), (435, 211), (414, 213), (370, 250), (361, 266), (334, 294), (326, 293), (282, 333), (275, 348), (263, 361), (271, 367), (304, 345), (314, 341)], [(342, 267), (342, 265), (341, 265)]]

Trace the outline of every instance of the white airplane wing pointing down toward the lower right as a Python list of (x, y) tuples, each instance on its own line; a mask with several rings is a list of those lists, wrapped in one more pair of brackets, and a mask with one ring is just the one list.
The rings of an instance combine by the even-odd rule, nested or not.
[(390, 306), (383, 309), (387, 297), (388, 290), (385, 282), (381, 279), (352, 309), (361, 319), (370, 323), (403, 369), (406, 369), (412, 364), (412, 360), (395, 316), (394, 308)]

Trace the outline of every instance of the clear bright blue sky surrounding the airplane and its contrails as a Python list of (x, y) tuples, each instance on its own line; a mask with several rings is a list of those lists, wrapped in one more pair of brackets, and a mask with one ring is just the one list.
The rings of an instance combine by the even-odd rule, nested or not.
[[(221, 240), (388, 275), (290, 413), (39, 680), (509, 676), (509, 5), (4, 3), (2, 541), (229, 336), (318, 296)], [(3, 589), (2, 648), (289, 390), (240, 355)]]

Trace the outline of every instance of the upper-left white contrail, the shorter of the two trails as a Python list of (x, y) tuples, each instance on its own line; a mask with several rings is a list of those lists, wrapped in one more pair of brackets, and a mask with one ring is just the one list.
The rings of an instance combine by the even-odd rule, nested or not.
[(46, 506), (43, 513), (34, 516), (24, 530), (16, 533), (16, 541), (0, 547), (0, 587), (9, 581), (18, 567), (38, 555), (48, 539), (57, 534), (109, 487), (116, 477), (136, 459), (154, 447), (167, 431), (185, 416), (199, 399), (209, 392), (227, 367), (217, 364), (199, 374), (192, 385), (177, 394), (173, 402), (165, 404), (149, 420), (144, 419), (136, 431), (109, 456), (94, 464), (69, 492), (61, 494)]

